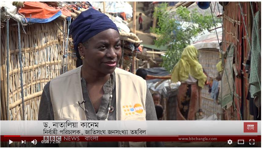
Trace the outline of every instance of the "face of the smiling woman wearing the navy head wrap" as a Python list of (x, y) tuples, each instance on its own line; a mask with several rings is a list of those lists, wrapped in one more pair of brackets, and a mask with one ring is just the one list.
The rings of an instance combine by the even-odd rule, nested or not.
[(115, 29), (96, 34), (79, 49), (80, 56), (85, 56), (83, 65), (100, 74), (113, 73), (122, 56), (120, 43), (120, 35)]

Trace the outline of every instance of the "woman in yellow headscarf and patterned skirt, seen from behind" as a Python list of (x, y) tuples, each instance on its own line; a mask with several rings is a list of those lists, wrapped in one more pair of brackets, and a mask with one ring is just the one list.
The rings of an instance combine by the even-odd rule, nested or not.
[(195, 120), (195, 114), (201, 109), (200, 91), (207, 77), (197, 55), (198, 50), (194, 46), (184, 48), (171, 74), (171, 81), (181, 82), (177, 95), (176, 120)]

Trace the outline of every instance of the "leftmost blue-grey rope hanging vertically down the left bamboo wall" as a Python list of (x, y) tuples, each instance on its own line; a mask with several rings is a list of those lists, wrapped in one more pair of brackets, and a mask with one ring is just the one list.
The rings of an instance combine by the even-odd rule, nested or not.
[(6, 37), (7, 37), (7, 45), (6, 45), (6, 71), (7, 71), (7, 120), (9, 120), (9, 18), (6, 20)]

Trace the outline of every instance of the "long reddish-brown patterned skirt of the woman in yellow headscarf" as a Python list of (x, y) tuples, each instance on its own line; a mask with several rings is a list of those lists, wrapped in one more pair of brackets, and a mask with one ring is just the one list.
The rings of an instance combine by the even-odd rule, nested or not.
[(176, 120), (195, 120), (201, 105), (200, 89), (197, 84), (182, 83), (178, 89)]

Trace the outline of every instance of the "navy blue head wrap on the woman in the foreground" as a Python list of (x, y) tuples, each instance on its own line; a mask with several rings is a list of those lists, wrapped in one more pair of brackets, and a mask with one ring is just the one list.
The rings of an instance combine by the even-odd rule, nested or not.
[(115, 23), (104, 13), (101, 13), (93, 8), (81, 12), (69, 26), (70, 34), (74, 40), (76, 56), (80, 59), (80, 55), (78, 53), (79, 43), (83, 43), (96, 34), (110, 28), (118, 31)]

